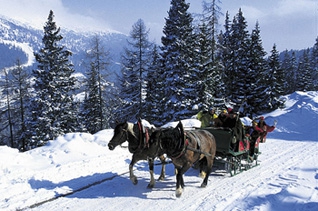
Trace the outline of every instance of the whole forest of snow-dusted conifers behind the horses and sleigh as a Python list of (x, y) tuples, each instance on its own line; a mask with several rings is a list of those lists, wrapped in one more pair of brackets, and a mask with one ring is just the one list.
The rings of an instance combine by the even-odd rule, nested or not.
[(225, 104), (253, 118), (283, 108), (286, 94), (318, 90), (318, 38), (301, 56), (280, 53), (275, 43), (267, 55), (260, 23), (249, 32), (241, 9), (220, 23), (219, 3), (204, 1), (193, 17), (185, 0), (171, 0), (160, 45), (137, 20), (116, 83), (108, 80), (111, 58), (97, 35), (87, 49), (87, 78), (77, 80), (50, 11), (34, 52), (37, 68), (28, 73), (17, 60), (1, 80), (0, 144), (26, 151), (70, 132), (94, 134), (138, 118), (161, 126)]

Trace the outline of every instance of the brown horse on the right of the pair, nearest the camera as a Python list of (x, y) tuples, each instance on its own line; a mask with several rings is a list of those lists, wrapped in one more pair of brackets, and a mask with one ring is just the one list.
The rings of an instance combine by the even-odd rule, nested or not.
[(200, 162), (201, 187), (206, 187), (216, 153), (214, 136), (206, 130), (184, 131), (182, 123), (175, 128), (160, 129), (152, 133), (150, 140), (159, 142), (164, 153), (171, 158), (176, 173), (176, 196), (184, 188), (183, 174), (196, 162)]

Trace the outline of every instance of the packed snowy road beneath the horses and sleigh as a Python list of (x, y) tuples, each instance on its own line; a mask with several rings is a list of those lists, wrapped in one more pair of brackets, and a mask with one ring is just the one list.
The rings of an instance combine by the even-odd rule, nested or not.
[[(122, 150), (122, 149), (120, 149)], [(261, 144), (261, 164), (234, 177), (213, 172), (207, 188), (200, 188), (197, 170), (185, 176), (186, 188), (181, 198), (175, 197), (172, 165), (167, 178), (157, 182), (153, 190), (147, 165), (140, 164), (134, 186), (128, 174), (117, 176), (91, 188), (61, 197), (33, 210), (314, 210), (318, 207), (318, 145), (268, 139)], [(116, 168), (116, 162), (113, 162)], [(128, 169), (128, 166), (127, 166)], [(160, 168), (156, 168), (159, 176)], [(118, 172), (120, 173), (120, 172)], [(307, 175), (304, 175), (307, 174)], [(310, 181), (312, 179), (313, 181)], [(305, 192), (305, 194), (304, 194)], [(305, 198), (304, 198), (305, 197)], [(301, 201), (299, 203), (299, 201)], [(305, 201), (306, 203), (303, 203)], [(296, 206), (296, 207), (295, 207)]]

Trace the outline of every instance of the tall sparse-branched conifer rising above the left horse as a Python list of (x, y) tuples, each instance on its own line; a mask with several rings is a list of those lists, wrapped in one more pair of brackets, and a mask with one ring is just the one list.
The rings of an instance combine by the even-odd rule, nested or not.
[(153, 43), (148, 39), (149, 30), (139, 19), (132, 27), (130, 39), (122, 55), (121, 102), (116, 112), (119, 120), (136, 121), (144, 118), (145, 77), (151, 62)]

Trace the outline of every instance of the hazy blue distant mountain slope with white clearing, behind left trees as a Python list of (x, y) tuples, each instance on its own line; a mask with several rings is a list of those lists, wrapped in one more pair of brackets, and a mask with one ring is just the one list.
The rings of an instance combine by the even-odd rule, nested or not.
[[(56, 24), (58, 26), (58, 23)], [(0, 72), (4, 68), (15, 66), (17, 59), (30, 70), (36, 68), (33, 52), (37, 52), (43, 46), (43, 33), (43, 30), (0, 16)], [(109, 70), (119, 71), (120, 54), (128, 38), (126, 35), (116, 32), (75, 32), (63, 28), (60, 34), (63, 36), (61, 45), (73, 53), (70, 60), (76, 72), (85, 74), (87, 71), (83, 61), (96, 35), (101, 39), (105, 50), (110, 53)]]

